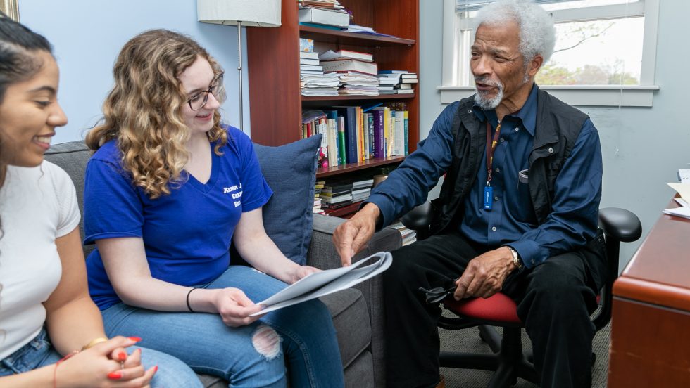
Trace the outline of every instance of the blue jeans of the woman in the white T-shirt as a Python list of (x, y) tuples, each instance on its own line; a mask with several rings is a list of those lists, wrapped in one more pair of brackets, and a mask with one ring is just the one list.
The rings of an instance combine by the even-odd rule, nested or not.
[[(128, 347), (127, 353), (131, 354), (134, 349), (137, 349), (137, 347)], [(154, 365), (158, 366), (158, 372), (153, 375), (153, 380), (151, 380), (152, 388), (202, 387), (194, 371), (184, 365), (182, 361), (159, 351), (146, 348), (141, 349), (144, 368), (148, 370)], [(55, 350), (44, 329), (29, 343), (20, 347), (3, 360), (0, 360), (0, 376), (29, 372), (30, 370), (54, 364), (60, 358), (62, 356)]]

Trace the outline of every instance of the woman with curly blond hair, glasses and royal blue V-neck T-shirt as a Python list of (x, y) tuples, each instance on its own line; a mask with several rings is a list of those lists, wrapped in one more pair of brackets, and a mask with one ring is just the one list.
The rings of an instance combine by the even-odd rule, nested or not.
[[(249, 137), (220, 124), (220, 65), (193, 39), (152, 30), (125, 44), (113, 75), (84, 179), (89, 292), (106, 332), (139, 332), (231, 387), (341, 387), (324, 304), (251, 316), (318, 270), (265, 233), (272, 191)], [(231, 243), (254, 268), (229, 266)]]

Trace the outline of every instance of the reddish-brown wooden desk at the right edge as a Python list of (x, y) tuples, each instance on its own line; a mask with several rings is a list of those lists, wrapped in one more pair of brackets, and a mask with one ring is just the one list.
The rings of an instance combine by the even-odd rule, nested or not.
[(608, 387), (690, 387), (690, 219), (654, 225), (613, 284), (611, 325)]

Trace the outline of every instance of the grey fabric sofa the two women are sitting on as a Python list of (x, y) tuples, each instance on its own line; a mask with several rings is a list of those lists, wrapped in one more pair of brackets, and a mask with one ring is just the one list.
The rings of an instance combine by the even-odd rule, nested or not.
[[(70, 176), (77, 188), (80, 210), (84, 190), (84, 168), (91, 156), (82, 141), (51, 146), (46, 160), (58, 164)], [(313, 234), (307, 264), (320, 269), (340, 266), (340, 259), (332, 243), (332, 234), (343, 219), (314, 214)], [(80, 224), (83, 236), (83, 228)], [(376, 233), (364, 252), (355, 261), (379, 251), (394, 250), (401, 245), (398, 231), (385, 228)], [(93, 246), (85, 246), (89, 254)], [(380, 276), (360, 283), (356, 289), (344, 290), (321, 298), (330, 310), (337, 330), (343, 360), (346, 387), (384, 386), (384, 339)], [(199, 375), (206, 387), (227, 387), (227, 383), (209, 375)]]

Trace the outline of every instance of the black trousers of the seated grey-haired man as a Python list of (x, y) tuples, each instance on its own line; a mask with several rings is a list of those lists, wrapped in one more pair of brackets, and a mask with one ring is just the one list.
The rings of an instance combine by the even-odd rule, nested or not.
[[(603, 238), (595, 243), (600, 246), (594, 251), (560, 254), (510, 273), (503, 284), (532, 340), (542, 387), (591, 386), (595, 328), (589, 316), (601, 285), (591, 273), (606, 273)], [(439, 381), (441, 309), (427, 304), (418, 289), (451, 286), (470, 259), (488, 250), (452, 232), (392, 252), (393, 264), (382, 274), (388, 387), (433, 387)]]

